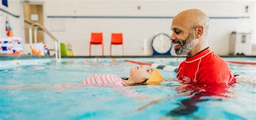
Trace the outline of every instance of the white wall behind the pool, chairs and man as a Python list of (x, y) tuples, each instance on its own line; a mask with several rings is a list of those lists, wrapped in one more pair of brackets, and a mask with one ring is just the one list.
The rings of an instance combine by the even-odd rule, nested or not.
[[(255, 42), (255, 2), (253, 1), (39, 1), (44, 1), (45, 27), (61, 42), (71, 43), (75, 47), (76, 55), (89, 55), (91, 32), (103, 32), (105, 55), (110, 54), (110, 35), (112, 32), (123, 32), (125, 55), (151, 55), (153, 36), (161, 32), (170, 35), (172, 33), (170, 30), (172, 19), (48, 18), (48, 16), (173, 17), (183, 10), (197, 8), (204, 11), (209, 17), (251, 17), (251, 22), (247, 23), (242, 22), (241, 19), (210, 19), (208, 45), (215, 53), (228, 54), (228, 40), (232, 31), (253, 30), (252, 38)], [(137, 9), (138, 5), (141, 6), (140, 10)], [(250, 8), (248, 13), (245, 13), (246, 5)], [(7, 10), (22, 17), (21, 9), (21, 2), (9, 0)], [(1, 14), (5, 16), (5, 13), (1, 12)], [(22, 21), (21, 17), (9, 18), (15, 34), (24, 37), (22, 22), (18, 22), (18, 19)], [(3, 18), (1, 16), (0, 36), (5, 34)], [(251, 28), (243, 29), (243, 26), (250, 26)], [(146, 41), (148, 48), (146, 54), (143, 50), (144, 41)], [(53, 48), (53, 42), (46, 34), (45, 43)], [(100, 46), (93, 46), (92, 49), (92, 55), (101, 55)], [(121, 47), (113, 47), (113, 55), (120, 55), (120, 50)]]

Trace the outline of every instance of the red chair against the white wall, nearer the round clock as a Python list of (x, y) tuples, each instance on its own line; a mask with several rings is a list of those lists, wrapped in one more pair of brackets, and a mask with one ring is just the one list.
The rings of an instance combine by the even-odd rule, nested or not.
[(124, 55), (124, 45), (123, 45), (123, 34), (122, 33), (112, 33), (111, 34), (110, 56), (112, 56), (112, 45), (122, 45), (123, 55)]

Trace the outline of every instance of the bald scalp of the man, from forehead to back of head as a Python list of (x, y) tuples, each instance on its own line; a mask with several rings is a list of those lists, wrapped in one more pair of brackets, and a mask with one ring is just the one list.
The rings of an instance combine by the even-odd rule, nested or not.
[(173, 18), (173, 24), (179, 24), (184, 29), (191, 29), (201, 25), (204, 27), (204, 36), (207, 36), (209, 29), (209, 18), (208, 16), (198, 9), (189, 9), (178, 13), (177, 16)]

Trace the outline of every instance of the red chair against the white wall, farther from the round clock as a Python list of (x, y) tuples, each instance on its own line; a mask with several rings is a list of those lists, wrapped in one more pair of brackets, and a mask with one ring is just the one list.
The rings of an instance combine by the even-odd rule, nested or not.
[(104, 45), (103, 45), (102, 32), (100, 32), (100, 33), (91, 33), (90, 56), (91, 56), (91, 45), (92, 44), (94, 44), (94, 45), (102, 44), (102, 55), (104, 56)]

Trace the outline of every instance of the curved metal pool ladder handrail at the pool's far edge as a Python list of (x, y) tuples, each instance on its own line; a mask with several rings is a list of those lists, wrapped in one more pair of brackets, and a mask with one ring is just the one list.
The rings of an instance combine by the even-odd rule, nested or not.
[(30, 24), (30, 26), (29, 26), (29, 43), (32, 44), (32, 28), (34, 28), (34, 40), (35, 40), (35, 43), (37, 43), (37, 30), (38, 29), (43, 30), (54, 41), (54, 45), (55, 45), (55, 60), (56, 61), (60, 61), (61, 55), (60, 55), (60, 43), (59, 43), (59, 41), (43, 25), (41, 25), (39, 23), (33, 23), (30, 20), (26, 20), (26, 19), (24, 19), (24, 21), (26, 23)]

